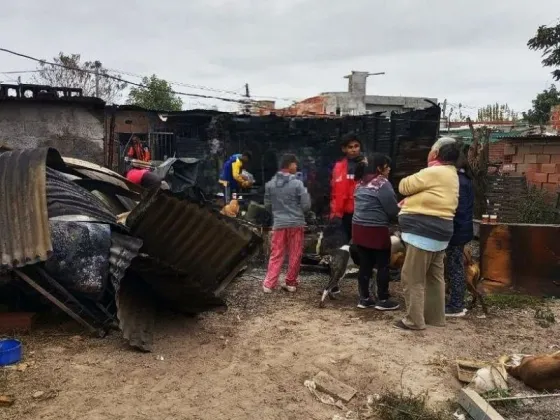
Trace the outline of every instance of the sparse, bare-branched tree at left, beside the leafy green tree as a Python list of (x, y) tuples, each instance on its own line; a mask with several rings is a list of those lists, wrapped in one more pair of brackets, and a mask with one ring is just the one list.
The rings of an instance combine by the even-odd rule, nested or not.
[[(126, 83), (106, 77), (109, 73), (107, 69), (103, 68), (101, 62), (85, 61), (82, 63), (80, 54), (66, 55), (61, 52), (53, 58), (53, 62), (58, 65), (39, 63), (37, 73), (33, 77), (34, 83), (55, 87), (80, 88), (84, 96), (95, 96), (96, 75), (94, 73), (97, 70), (99, 73), (99, 97), (109, 103), (114, 103), (126, 87)], [(118, 74), (112, 76), (120, 78)]]

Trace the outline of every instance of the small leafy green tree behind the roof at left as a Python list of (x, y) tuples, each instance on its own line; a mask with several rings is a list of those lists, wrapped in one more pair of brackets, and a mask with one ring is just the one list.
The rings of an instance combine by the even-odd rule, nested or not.
[(158, 111), (180, 111), (183, 101), (173, 93), (171, 85), (155, 74), (142, 79), (144, 87), (133, 87), (128, 95), (128, 103)]

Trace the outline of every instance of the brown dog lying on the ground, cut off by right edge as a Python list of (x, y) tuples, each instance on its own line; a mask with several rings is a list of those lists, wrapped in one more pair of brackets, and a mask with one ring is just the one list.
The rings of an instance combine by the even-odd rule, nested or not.
[(519, 366), (508, 366), (508, 373), (537, 391), (560, 389), (560, 351), (553, 354), (526, 356)]

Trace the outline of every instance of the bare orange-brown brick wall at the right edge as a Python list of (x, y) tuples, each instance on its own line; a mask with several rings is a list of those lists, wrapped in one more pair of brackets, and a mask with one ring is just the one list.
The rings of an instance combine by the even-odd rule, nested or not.
[(529, 185), (552, 194), (559, 191), (560, 141), (508, 141), (504, 145), (504, 156), (511, 158), (515, 175), (524, 175)]

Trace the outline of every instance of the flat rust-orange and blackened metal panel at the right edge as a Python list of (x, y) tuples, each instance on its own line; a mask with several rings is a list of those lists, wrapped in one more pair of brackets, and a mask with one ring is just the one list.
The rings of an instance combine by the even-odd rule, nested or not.
[(481, 224), (483, 287), (560, 296), (560, 225)]

